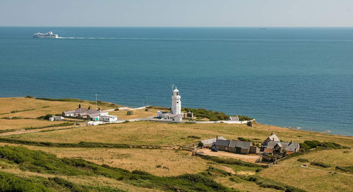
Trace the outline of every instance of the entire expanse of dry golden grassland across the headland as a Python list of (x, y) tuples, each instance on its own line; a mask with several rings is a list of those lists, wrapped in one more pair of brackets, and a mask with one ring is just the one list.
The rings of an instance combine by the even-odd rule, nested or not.
[[(94, 106), (89, 101), (46, 101), (36, 100), (33, 98), (0, 98), (0, 107), (3, 108), (1, 117), (31, 117), (35, 118), (46, 114), (61, 113), (63, 110), (76, 109), (77, 105), (81, 103), (82, 107)], [(114, 108), (111, 104), (102, 104), (103, 109)], [(118, 105), (114, 105), (118, 106)], [(34, 110), (26, 110), (34, 109)], [(11, 111), (22, 111), (18, 113), (11, 113)], [(134, 111), (134, 115), (126, 115), (126, 111), (111, 111), (109, 114), (117, 115), (119, 119), (135, 119), (144, 118), (156, 115), (156, 109), (150, 109), (146, 112), (142, 110)], [(35, 119), (19, 119), (19, 120), (0, 120), (0, 130), (4, 129), (20, 129), (25, 127), (42, 127), (51, 124), (62, 122), (49, 122)], [(53, 129), (53, 128), (45, 128)], [(59, 177), (72, 182), (75, 186), (79, 186), (80, 190), (74, 188), (67, 188), (57, 186), (58, 191), (85, 191), (81, 190), (80, 186), (88, 187), (94, 186), (96, 188), (89, 188), (88, 191), (111, 191), (112, 188), (119, 188), (123, 191), (167, 191), (165, 186), (160, 185), (160, 182), (166, 183), (166, 186), (172, 187), (177, 191), (175, 186), (186, 189), (189, 185), (184, 185), (183, 182), (173, 183), (174, 180), (181, 175), (197, 174), (201, 175), (202, 179), (212, 179), (218, 184), (225, 187), (225, 191), (230, 188), (239, 189), (242, 191), (263, 191), (263, 192), (280, 192), (284, 190), (276, 190), (274, 188), (266, 188), (260, 183), (265, 183), (267, 186), (286, 185), (302, 188), (310, 192), (321, 191), (352, 191), (353, 188), (353, 174), (349, 172), (342, 172), (335, 169), (336, 166), (347, 167), (353, 165), (353, 149), (337, 149), (337, 150), (323, 150), (313, 151), (311, 153), (303, 154), (297, 157), (289, 158), (280, 161), (279, 164), (263, 169), (260, 172), (255, 172), (257, 167), (246, 167), (244, 165), (220, 163), (215, 160), (206, 160), (198, 156), (191, 156), (190, 152), (185, 152), (175, 149), (139, 149), (139, 148), (76, 148), (76, 147), (50, 147), (45, 142), (60, 142), (60, 143), (79, 143), (86, 142), (102, 142), (102, 143), (125, 143), (125, 144), (143, 144), (143, 145), (187, 145), (203, 139), (209, 139), (216, 135), (223, 136), (226, 139), (237, 139), (237, 137), (244, 137), (255, 140), (255, 142), (262, 142), (270, 133), (275, 133), (281, 140), (293, 142), (304, 142), (305, 140), (330, 141), (339, 143), (344, 146), (353, 147), (353, 137), (330, 135), (327, 133), (307, 132), (298, 129), (286, 129), (276, 126), (268, 126), (258, 123), (253, 123), (253, 127), (244, 124), (179, 124), (179, 123), (157, 123), (157, 122), (129, 122), (119, 124), (104, 124), (100, 126), (86, 126), (66, 130), (53, 130), (50, 132), (26, 133), (19, 135), (5, 136), (14, 139), (24, 139), (31, 141), (44, 142), (38, 147), (23, 145), (31, 150), (41, 150), (48, 153), (53, 153), (58, 158), (64, 158), (66, 161), (74, 161), (82, 158), (92, 164), (97, 164), (97, 169), (85, 169), (78, 166), (76, 172), (85, 172), (81, 175), (67, 175), (67, 174), (52, 174), (46, 172), (48, 169), (57, 166), (55, 164), (44, 165), (52, 162), (36, 162), (33, 165), (26, 162), (25, 164), (13, 163), (6, 158), (0, 158), (0, 174), (8, 173), (18, 177), (24, 181), (31, 183), (45, 184), (52, 182), (48, 178)], [(193, 139), (188, 136), (198, 136), (201, 139)], [(0, 146), (20, 146), (16, 144), (1, 143)], [(84, 146), (87, 147), (87, 146)], [(2, 152), (0, 150), (0, 152)], [(35, 155), (36, 156), (36, 155)], [(26, 155), (21, 155), (18, 158), (26, 159)], [(65, 159), (68, 158), (69, 160)], [(299, 162), (298, 158), (307, 159), (309, 167), (300, 167), (303, 162)], [(11, 159), (11, 156), (10, 156)], [(16, 160), (16, 158), (14, 158)], [(41, 159), (40, 159), (41, 160)], [(57, 161), (57, 160), (55, 160)], [(323, 168), (315, 165), (310, 165), (310, 162), (323, 162), (329, 164), (330, 167)], [(102, 171), (105, 164), (110, 167), (117, 167), (126, 169), (127, 171), (140, 170), (145, 171), (152, 176), (151, 180), (137, 179), (137, 175), (129, 176), (120, 180), (115, 172), (103, 172), (93, 174), (94, 171)], [(58, 164), (59, 165), (59, 164)], [(160, 167), (157, 165), (160, 165)], [(44, 169), (36, 169), (44, 166)], [(258, 166), (258, 165), (256, 165)], [(27, 169), (26, 169), (27, 167)], [(165, 167), (165, 168), (163, 168)], [(60, 170), (60, 169), (58, 169)], [(120, 173), (119, 173), (120, 174)], [(127, 173), (126, 173), (127, 174)], [(132, 174), (132, 173), (128, 173)], [(153, 176), (155, 175), (155, 176)], [(254, 182), (247, 180), (249, 176), (254, 175), (258, 177), (261, 182)], [(0, 175), (1, 176), (1, 175)], [(124, 175), (123, 175), (124, 176)], [(201, 177), (200, 176), (200, 177)], [(119, 176), (120, 177), (120, 176)], [(125, 177), (125, 176), (124, 176)], [(138, 176), (140, 177), (140, 176)], [(163, 178), (155, 178), (163, 177)], [(192, 177), (196, 177), (195, 175)], [(1, 178), (1, 177), (0, 177)], [(157, 179), (157, 180), (154, 180)], [(159, 180), (158, 180), (159, 179)], [(45, 181), (44, 181), (45, 180)], [(43, 181), (43, 182), (42, 182)], [(158, 182), (156, 182), (158, 181)], [(196, 179), (195, 182), (198, 182)], [(153, 183), (155, 182), (155, 183)], [(186, 180), (185, 180), (186, 182)], [(213, 182), (208, 180), (208, 182)], [(181, 185), (183, 184), (183, 185)], [(269, 185), (271, 184), (271, 185)], [(57, 184), (54, 184), (55, 186)], [(197, 184), (199, 185), (199, 184)], [(1, 187), (1, 186), (0, 186)], [(98, 188), (97, 188), (98, 187)], [(102, 189), (103, 187), (103, 189)], [(108, 189), (104, 188), (108, 187)], [(164, 188), (163, 188), (164, 187)], [(50, 188), (50, 186), (49, 186)], [(84, 189), (84, 188), (83, 188)], [(197, 190), (186, 190), (194, 192)], [(199, 190), (202, 191), (202, 190)], [(221, 191), (213, 188), (209, 191)], [(121, 192), (121, 191), (119, 191)]]

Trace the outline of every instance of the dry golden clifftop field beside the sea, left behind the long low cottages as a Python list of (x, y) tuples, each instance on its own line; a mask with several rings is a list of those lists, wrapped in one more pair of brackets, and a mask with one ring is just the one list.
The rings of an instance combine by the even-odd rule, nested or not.
[[(91, 106), (95, 108), (95, 105), (85, 102), (65, 102), (65, 101), (44, 101), (36, 100), (32, 98), (23, 98), (23, 97), (11, 97), (11, 98), (0, 98), (0, 109), (2, 114), (0, 117), (30, 117), (36, 118), (46, 114), (58, 114), (62, 111), (77, 109), (78, 105), (81, 104), (82, 108), (88, 108)], [(107, 104), (101, 104), (101, 109), (109, 109)], [(49, 107), (48, 107), (49, 106)], [(45, 107), (45, 108), (43, 108)], [(19, 113), (11, 113), (14, 110), (25, 110), (25, 109), (35, 109), (31, 111), (23, 111)]]

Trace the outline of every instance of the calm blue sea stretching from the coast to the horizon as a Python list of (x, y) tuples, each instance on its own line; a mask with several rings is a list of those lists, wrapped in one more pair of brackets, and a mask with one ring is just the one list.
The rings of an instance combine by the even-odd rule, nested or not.
[(353, 135), (353, 28), (0, 27), (0, 70), (0, 97), (169, 106), (175, 84), (184, 107)]

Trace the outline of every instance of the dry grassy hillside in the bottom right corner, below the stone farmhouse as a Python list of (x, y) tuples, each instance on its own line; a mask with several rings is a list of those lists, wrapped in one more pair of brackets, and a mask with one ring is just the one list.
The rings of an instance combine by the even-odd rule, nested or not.
[[(278, 165), (271, 166), (268, 169), (260, 172), (261, 177), (274, 179), (274, 175), (281, 175), (276, 177), (276, 181), (296, 186), (311, 192), (322, 191), (353, 191), (353, 175), (349, 173), (342, 173), (335, 170), (335, 166), (352, 166), (353, 150), (348, 150), (351, 153), (345, 154), (340, 150), (325, 150), (300, 155), (297, 158), (291, 158), (280, 162)], [(305, 158), (309, 161), (321, 161), (330, 164), (332, 167), (323, 168), (309, 165), (309, 167), (300, 167), (301, 162), (298, 158)], [(307, 164), (310, 164), (308, 162)], [(334, 174), (337, 172), (337, 174)]]

